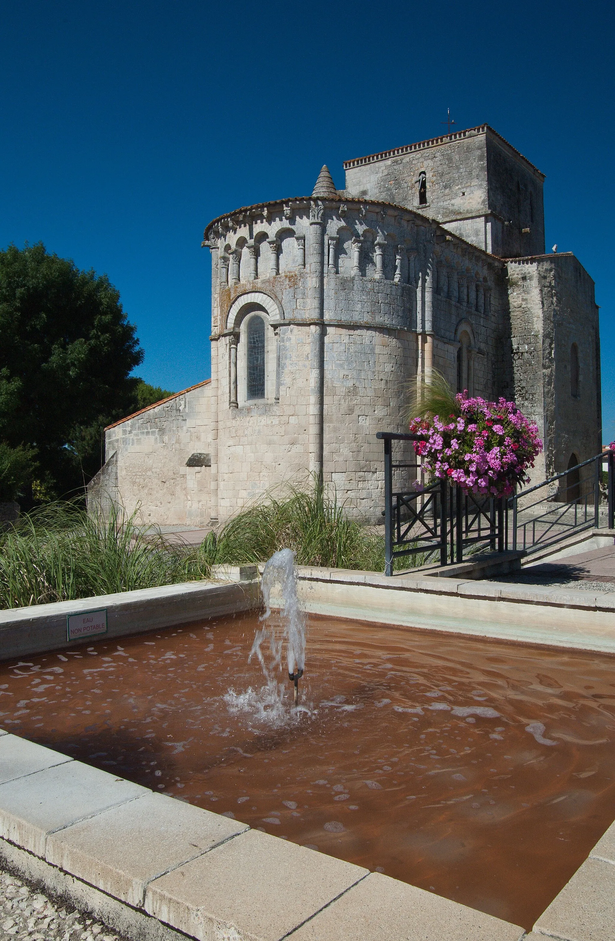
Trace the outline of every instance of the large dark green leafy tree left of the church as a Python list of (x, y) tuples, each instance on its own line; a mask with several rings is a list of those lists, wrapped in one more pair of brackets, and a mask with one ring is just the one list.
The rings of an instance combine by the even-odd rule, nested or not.
[(142, 359), (106, 275), (41, 243), (0, 251), (0, 439), (36, 457), (35, 494), (67, 495), (100, 468), (105, 425), (135, 410)]

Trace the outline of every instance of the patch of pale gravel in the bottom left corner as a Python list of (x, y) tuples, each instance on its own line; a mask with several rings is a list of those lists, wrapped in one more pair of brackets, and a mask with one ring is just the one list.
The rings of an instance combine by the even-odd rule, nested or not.
[(22, 879), (0, 870), (0, 939), (125, 941), (62, 901), (52, 901)]

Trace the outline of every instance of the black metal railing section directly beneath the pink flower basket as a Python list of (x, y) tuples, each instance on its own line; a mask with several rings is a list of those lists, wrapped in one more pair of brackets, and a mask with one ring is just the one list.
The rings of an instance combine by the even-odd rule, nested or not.
[[(498, 551), (508, 548), (506, 500), (464, 494), (444, 480), (417, 488), (413, 478), (420, 474), (419, 462), (394, 460), (394, 448), (396, 442), (413, 443), (426, 440), (424, 436), (380, 431), (376, 437), (384, 442), (385, 575), (393, 574), (396, 559), (418, 553), (446, 566), (461, 562), (464, 550), (480, 544)], [(399, 473), (408, 470), (413, 475)]]

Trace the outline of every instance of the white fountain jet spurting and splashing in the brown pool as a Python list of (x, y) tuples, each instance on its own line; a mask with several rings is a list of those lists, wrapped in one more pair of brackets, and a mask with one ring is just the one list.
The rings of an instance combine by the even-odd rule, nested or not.
[[(270, 601), (276, 585), (281, 589), (282, 607), (280, 617), (272, 618)], [(256, 657), (267, 685), (260, 690), (250, 687), (246, 693), (239, 694), (231, 689), (223, 698), (233, 714), (243, 712), (257, 723), (283, 726), (297, 720), (301, 713), (310, 712), (297, 705), (297, 698), (294, 708), (286, 706), (287, 687), (279, 679), (284, 652), (289, 676), (300, 677), (305, 667), (305, 616), (297, 597), (295, 553), (292, 550), (282, 549), (271, 556), (263, 571), (261, 590), (266, 610), (259, 618), (262, 627), (256, 630), (248, 662)]]

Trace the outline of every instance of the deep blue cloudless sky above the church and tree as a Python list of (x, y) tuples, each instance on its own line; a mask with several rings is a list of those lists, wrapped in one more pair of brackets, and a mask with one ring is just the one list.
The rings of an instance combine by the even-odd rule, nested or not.
[(106, 272), (138, 369), (209, 375), (205, 224), (310, 193), (323, 163), (490, 123), (546, 173), (546, 245), (601, 305), (615, 438), (613, 12), (605, 3), (3, 6), (0, 247), (42, 240)]

